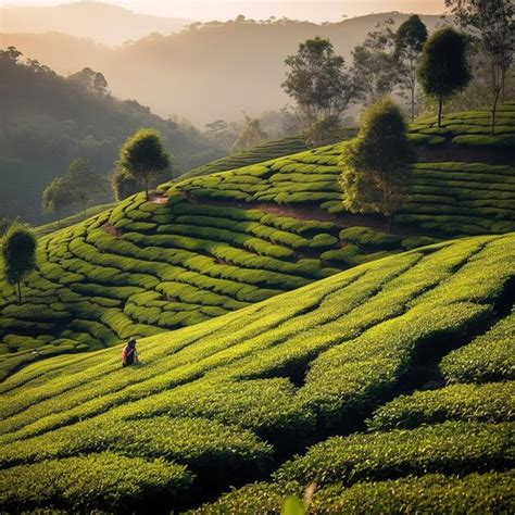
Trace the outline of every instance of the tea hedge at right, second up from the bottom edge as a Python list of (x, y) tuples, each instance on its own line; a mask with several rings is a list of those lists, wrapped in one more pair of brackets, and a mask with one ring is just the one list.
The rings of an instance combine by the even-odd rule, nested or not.
[(282, 465), (276, 481), (318, 486), (428, 473), (466, 474), (513, 466), (513, 425), (456, 423), (334, 437)]

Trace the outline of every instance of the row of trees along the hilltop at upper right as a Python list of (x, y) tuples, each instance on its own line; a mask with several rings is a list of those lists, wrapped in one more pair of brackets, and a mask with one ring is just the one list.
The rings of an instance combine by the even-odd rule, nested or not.
[(441, 127), (444, 102), (472, 84), (473, 90), (480, 87), (485, 92), (493, 135), (497, 105), (513, 79), (508, 70), (515, 7), (511, 0), (445, 0), (445, 4), (452, 24), (428, 37), (417, 15), (397, 30), (387, 20), (354, 48), (350, 65), (329, 39), (302, 42), (285, 61), (288, 71), (281, 85), (294, 102), (289, 113), (299, 128), (317, 141), (324, 134), (331, 134), (325, 142), (338, 140), (342, 115), (351, 105), (367, 106), (385, 96), (405, 99), (412, 121), (437, 104)]

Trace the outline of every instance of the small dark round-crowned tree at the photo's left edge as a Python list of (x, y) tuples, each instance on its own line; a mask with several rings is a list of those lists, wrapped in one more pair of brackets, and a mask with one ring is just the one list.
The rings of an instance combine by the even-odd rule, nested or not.
[(5, 279), (22, 303), (22, 280), (36, 267), (36, 237), (25, 225), (13, 224), (2, 240)]

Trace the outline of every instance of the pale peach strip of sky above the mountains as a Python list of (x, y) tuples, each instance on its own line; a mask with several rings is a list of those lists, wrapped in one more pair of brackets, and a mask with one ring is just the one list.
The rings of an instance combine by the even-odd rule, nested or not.
[[(52, 5), (71, 1), (73, 0), (0, 0), (0, 4)], [(387, 11), (440, 14), (444, 9), (443, 0), (113, 0), (106, 3), (140, 13), (199, 21), (223, 21), (244, 14), (258, 20), (288, 16), (323, 22), (341, 20), (343, 14), (356, 16)]]

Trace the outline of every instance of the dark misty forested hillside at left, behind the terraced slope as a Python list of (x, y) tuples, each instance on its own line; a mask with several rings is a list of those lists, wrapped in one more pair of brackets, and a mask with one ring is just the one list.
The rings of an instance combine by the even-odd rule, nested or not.
[[(106, 178), (120, 145), (142, 126), (160, 131), (176, 173), (225, 153), (191, 124), (114, 98), (91, 68), (65, 78), (10, 47), (0, 51), (0, 76), (1, 215), (42, 222), (41, 193), (53, 178), (78, 158)], [(111, 198), (110, 188), (102, 194), (98, 201)]]

